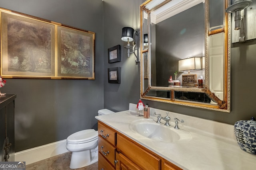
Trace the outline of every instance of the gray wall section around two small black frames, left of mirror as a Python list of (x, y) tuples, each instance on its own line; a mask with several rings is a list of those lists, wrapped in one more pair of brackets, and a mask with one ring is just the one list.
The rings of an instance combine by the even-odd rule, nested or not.
[[(121, 40), (122, 28), (140, 28), (140, 4), (144, 0), (104, 0), (104, 107), (112, 111), (129, 108), (129, 103), (140, 99), (140, 63), (135, 63), (134, 54), (127, 58)], [(121, 61), (108, 63), (108, 48), (121, 45)], [(121, 67), (121, 83), (108, 83), (108, 68)]]

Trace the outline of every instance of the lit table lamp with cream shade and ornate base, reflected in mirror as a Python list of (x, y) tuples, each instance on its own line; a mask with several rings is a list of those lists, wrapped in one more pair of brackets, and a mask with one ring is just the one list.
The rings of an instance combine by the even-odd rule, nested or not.
[(188, 71), (188, 74), (182, 74), (182, 86), (195, 86), (197, 75), (190, 74), (190, 71), (202, 69), (202, 60), (203, 57), (191, 57), (178, 61), (178, 71)]

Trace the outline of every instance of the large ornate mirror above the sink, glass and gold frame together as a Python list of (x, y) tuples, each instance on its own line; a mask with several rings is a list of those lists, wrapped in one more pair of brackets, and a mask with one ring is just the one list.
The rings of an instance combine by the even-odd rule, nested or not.
[(229, 0), (140, 6), (140, 98), (230, 112)]

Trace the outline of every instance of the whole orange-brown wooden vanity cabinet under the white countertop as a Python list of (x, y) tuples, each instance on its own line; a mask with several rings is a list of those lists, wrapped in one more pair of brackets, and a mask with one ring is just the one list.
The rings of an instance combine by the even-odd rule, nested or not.
[(99, 170), (182, 170), (101, 121), (98, 134)]

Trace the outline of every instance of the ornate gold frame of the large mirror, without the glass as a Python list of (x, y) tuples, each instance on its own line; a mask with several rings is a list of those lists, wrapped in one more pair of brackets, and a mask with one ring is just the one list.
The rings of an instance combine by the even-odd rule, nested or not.
[[(144, 54), (148, 55), (148, 74), (151, 73), (151, 46), (148, 45), (148, 49), (144, 50), (143, 47), (143, 20), (144, 16), (143, 13), (146, 12), (148, 14), (148, 20), (150, 20), (150, 10), (146, 8), (146, 5), (149, 4), (154, 0), (147, 0), (140, 6), (140, 98), (144, 100), (151, 100), (156, 102), (165, 102), (170, 104), (178, 104), (182, 106), (191, 106), (191, 107), (198, 107), (202, 109), (210, 109), (216, 111), (224, 111), (230, 112), (230, 13), (224, 12), (224, 27), (220, 29), (216, 29), (214, 31), (209, 31), (209, 2), (205, 0), (205, 88), (177, 88), (177, 87), (162, 87), (162, 86), (151, 86), (151, 77), (148, 77), (148, 88), (144, 89), (145, 82), (144, 82)], [(155, 0), (156, 1), (156, 0)], [(160, 3), (158, 6), (152, 8), (155, 10), (166, 3), (170, 2), (171, 0), (165, 0), (164, 2)], [(230, 0), (224, 0), (224, 8), (226, 9), (230, 4)], [(150, 21), (148, 21), (150, 23)], [(213, 92), (209, 89), (209, 57), (208, 57), (208, 39), (210, 35), (214, 35), (217, 33), (224, 33), (224, 95), (223, 100), (220, 100)], [(150, 42), (150, 24), (148, 24), (148, 39)], [(170, 98), (162, 98), (162, 97), (155, 97), (155, 96), (147, 96), (147, 93), (150, 90), (164, 90), (170, 92)], [(205, 93), (211, 100), (216, 102), (216, 104), (206, 104), (201, 102), (191, 102), (188, 100), (176, 100), (174, 98), (174, 92), (200, 92)]]

